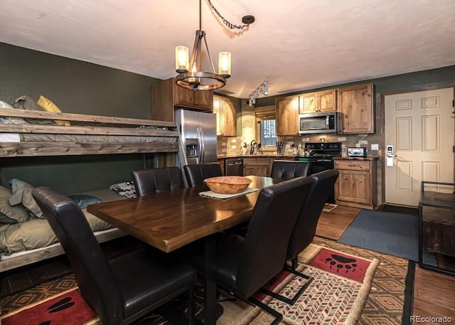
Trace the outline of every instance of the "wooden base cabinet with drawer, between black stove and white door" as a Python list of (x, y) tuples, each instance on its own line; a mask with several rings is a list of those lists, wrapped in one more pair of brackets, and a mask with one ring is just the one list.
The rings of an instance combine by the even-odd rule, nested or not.
[(335, 201), (341, 206), (373, 209), (378, 201), (376, 161), (335, 159), (340, 173), (335, 183)]

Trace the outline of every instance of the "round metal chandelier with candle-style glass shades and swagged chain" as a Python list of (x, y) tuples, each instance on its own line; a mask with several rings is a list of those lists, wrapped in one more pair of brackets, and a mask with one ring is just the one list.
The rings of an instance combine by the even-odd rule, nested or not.
[[(231, 53), (220, 52), (218, 54), (218, 73), (215, 73), (215, 66), (210, 57), (207, 40), (205, 39), (205, 31), (202, 30), (201, 1), (202, 0), (199, 0), (199, 29), (196, 31), (196, 39), (194, 41), (193, 51), (191, 52), (191, 58), (188, 60), (188, 48), (186, 46), (176, 47), (176, 72), (178, 73), (176, 84), (191, 90), (214, 90), (224, 87), (226, 85), (226, 79), (230, 78)], [(244, 25), (233, 25), (220, 15), (210, 0), (208, 0), (208, 3), (210, 4), (210, 9), (212, 9), (230, 29), (248, 28), (250, 23), (255, 21), (254, 16), (247, 15), (242, 17), (242, 23), (244, 23)], [(204, 42), (205, 50), (207, 50), (208, 60), (212, 68), (211, 72), (202, 70), (202, 42)]]

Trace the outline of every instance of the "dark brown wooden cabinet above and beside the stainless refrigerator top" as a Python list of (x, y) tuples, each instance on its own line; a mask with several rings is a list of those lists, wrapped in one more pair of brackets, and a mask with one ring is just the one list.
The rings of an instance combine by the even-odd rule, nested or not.
[(173, 121), (175, 107), (213, 111), (213, 90), (178, 87), (175, 78), (154, 82), (150, 87), (151, 119)]

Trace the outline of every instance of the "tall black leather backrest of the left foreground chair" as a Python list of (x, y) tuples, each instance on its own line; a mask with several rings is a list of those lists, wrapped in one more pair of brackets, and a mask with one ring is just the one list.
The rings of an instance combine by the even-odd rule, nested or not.
[(34, 188), (33, 197), (65, 250), (82, 297), (103, 321), (119, 324), (123, 317), (122, 293), (80, 208), (48, 187)]

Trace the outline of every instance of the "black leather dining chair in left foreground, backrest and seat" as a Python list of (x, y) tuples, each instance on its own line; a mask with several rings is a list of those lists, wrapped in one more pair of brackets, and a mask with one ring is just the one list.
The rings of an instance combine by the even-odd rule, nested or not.
[(186, 292), (188, 323), (193, 324), (196, 275), (191, 267), (147, 249), (108, 261), (73, 200), (48, 187), (34, 188), (33, 197), (65, 250), (82, 297), (103, 324), (131, 324)]

